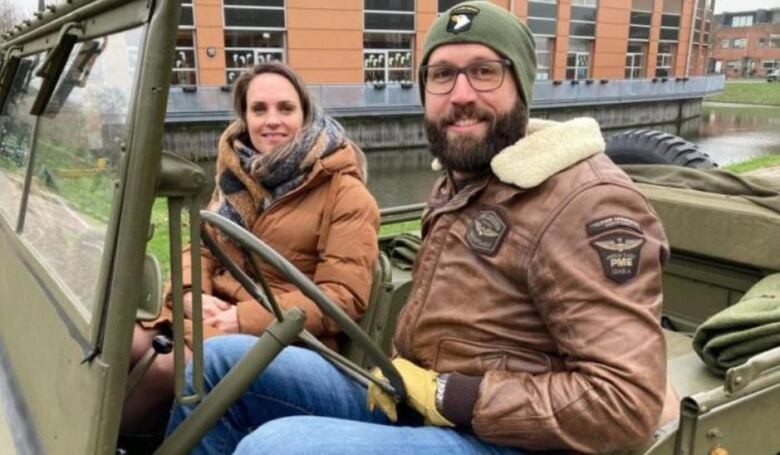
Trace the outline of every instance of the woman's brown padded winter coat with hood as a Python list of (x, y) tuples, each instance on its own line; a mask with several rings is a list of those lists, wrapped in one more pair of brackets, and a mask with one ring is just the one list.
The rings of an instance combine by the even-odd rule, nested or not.
[[(377, 231), (379, 209), (363, 183), (362, 152), (350, 145), (318, 160), (305, 182), (275, 201), (261, 213), (252, 233), (310, 277), (334, 302), (354, 319), (368, 304), (373, 265), (379, 254)], [(223, 250), (247, 270), (243, 255), (232, 242), (220, 239), (207, 228)], [(241, 284), (211, 255), (201, 248), (203, 293), (214, 295), (238, 307), (240, 333), (259, 335), (273, 320)], [(183, 255), (184, 285), (189, 286), (191, 264), (189, 247)], [(306, 328), (335, 347), (339, 331), (333, 320), (317, 305), (287, 282), (272, 267), (263, 264), (274, 297), (283, 309), (299, 307), (306, 312)], [(168, 307), (160, 319), (170, 321)], [(185, 321), (185, 338), (191, 339), (191, 324)], [(204, 337), (223, 333), (204, 327)]]

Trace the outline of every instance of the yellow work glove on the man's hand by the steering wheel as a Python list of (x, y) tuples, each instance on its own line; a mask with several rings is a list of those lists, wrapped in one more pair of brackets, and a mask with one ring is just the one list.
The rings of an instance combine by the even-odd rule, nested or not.
[[(455, 426), (454, 423), (444, 418), (436, 409), (436, 378), (439, 376), (438, 373), (420, 368), (400, 357), (393, 359), (393, 366), (398, 370), (401, 379), (404, 381), (406, 401), (425, 418), (426, 425)], [(376, 377), (385, 379), (378, 368), (375, 368), (373, 373)], [(379, 407), (391, 421), (395, 422), (398, 420), (395, 397), (382, 390), (378, 385), (369, 383), (367, 401), (370, 411), (373, 411), (375, 407)]]

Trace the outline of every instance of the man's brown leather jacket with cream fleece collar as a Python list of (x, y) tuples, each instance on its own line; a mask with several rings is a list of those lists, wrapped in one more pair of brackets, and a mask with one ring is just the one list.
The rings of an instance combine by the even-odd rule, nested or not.
[[(595, 121), (532, 121), (529, 133), (493, 174), (435, 186), (395, 348), (456, 372), (444, 414), (483, 440), (641, 445), (665, 401), (663, 228), (601, 153)], [(470, 395), (467, 419), (448, 414)]]

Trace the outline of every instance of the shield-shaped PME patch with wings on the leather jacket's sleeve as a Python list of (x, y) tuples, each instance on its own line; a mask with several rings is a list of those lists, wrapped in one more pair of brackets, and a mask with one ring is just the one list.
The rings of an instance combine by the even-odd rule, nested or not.
[(606, 234), (590, 242), (599, 253), (604, 274), (625, 283), (639, 271), (639, 256), (645, 239), (633, 234)]

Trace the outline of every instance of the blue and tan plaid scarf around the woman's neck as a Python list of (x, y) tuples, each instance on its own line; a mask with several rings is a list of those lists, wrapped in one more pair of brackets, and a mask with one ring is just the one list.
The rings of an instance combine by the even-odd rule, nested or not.
[(263, 210), (306, 180), (318, 159), (345, 144), (344, 128), (319, 107), (310, 126), (265, 155), (252, 148), (241, 128), (241, 122), (233, 122), (219, 140), (217, 184), (208, 210), (248, 230)]

